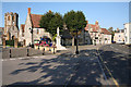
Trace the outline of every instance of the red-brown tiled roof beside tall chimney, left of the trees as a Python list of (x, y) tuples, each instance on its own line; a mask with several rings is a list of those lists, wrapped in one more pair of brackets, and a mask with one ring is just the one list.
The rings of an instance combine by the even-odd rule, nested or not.
[(31, 21), (32, 21), (33, 27), (40, 27), (39, 26), (40, 18), (41, 18), (41, 15), (39, 14), (31, 14)]

